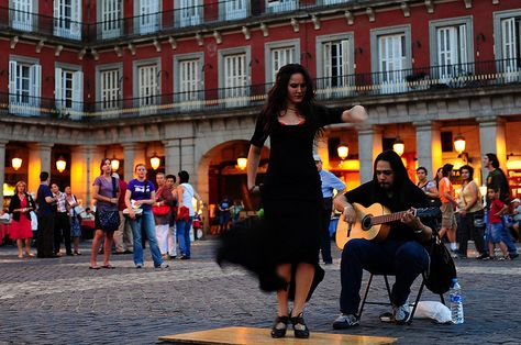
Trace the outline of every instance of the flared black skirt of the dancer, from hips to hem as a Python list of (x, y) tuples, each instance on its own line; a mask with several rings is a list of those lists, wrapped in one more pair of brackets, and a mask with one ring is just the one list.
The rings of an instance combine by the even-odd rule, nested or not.
[[(254, 274), (264, 291), (289, 289), (295, 298), (295, 270), (297, 264), (315, 266), (311, 298), (324, 277), (319, 266), (320, 214), (318, 201), (265, 200), (263, 219), (247, 219), (220, 236), (217, 261), (223, 266), (235, 264)], [(292, 264), (291, 281), (277, 275), (277, 266)]]

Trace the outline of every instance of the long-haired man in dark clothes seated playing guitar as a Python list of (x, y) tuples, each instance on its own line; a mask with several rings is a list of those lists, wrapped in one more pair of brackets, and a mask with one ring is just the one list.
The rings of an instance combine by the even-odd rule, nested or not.
[(334, 207), (344, 212), (342, 219), (348, 224), (356, 221), (354, 202), (364, 208), (380, 203), (391, 212), (407, 212), (399, 221), (388, 224), (390, 231), (385, 240), (353, 238), (345, 244), (341, 261), (342, 313), (333, 322), (333, 329), (359, 324), (357, 312), (363, 269), (396, 275), (391, 289), (392, 321), (403, 324), (410, 318), (407, 302), (410, 287), (429, 266), (429, 254), (422, 243), (429, 242), (433, 227), (429, 219), (421, 221), (414, 216), (411, 208), (428, 208), (429, 200), (409, 179), (400, 157), (393, 151), (385, 151), (376, 157), (372, 181), (339, 194), (334, 200)]

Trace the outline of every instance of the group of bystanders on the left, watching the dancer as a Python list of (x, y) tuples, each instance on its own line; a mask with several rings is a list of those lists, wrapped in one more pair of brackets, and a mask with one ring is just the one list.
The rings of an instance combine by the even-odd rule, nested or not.
[[(144, 164), (137, 164), (134, 174), (135, 178), (126, 182), (112, 171), (110, 159), (103, 158), (100, 176), (95, 179), (91, 190), (93, 212), (80, 205), (69, 186), (60, 191), (57, 183), (51, 183), (46, 171), (40, 174), (35, 198), (27, 192), (26, 183), (19, 181), (7, 212), (11, 218), (9, 234), (16, 243), (18, 257), (81, 255), (81, 221), (92, 219), (90, 269), (114, 268), (110, 264), (112, 253), (133, 254), (135, 267), (142, 268), (145, 240), (156, 268), (167, 268), (165, 261), (173, 258), (190, 259), (190, 230), (202, 201), (189, 183), (189, 174), (181, 170), (177, 178), (156, 174), (157, 190), (146, 179)], [(197, 200), (196, 207), (192, 199)], [(36, 255), (32, 253), (32, 246), (36, 246)], [(100, 253), (103, 261), (99, 266)]]

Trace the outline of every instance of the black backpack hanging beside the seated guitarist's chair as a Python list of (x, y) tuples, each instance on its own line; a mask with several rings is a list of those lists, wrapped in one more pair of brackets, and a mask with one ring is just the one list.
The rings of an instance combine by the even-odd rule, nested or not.
[(430, 257), (429, 270), (423, 272), (425, 287), (433, 293), (445, 293), (451, 289), (452, 280), (457, 276), (451, 253), (437, 234), (433, 236), (425, 248)]

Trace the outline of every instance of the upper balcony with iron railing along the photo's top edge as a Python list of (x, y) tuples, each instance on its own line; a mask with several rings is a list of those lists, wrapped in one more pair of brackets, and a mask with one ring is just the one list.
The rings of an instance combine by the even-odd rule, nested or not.
[[(345, 10), (361, 2), (374, 0), (221, 0), (210, 4), (159, 11), (130, 18), (91, 23), (41, 15), (0, 7), (0, 31), (32, 33), (37, 36), (65, 38), (70, 43), (101, 45), (114, 41), (134, 40), (157, 34), (192, 32), (195, 27), (230, 25), (230, 21), (262, 21), (273, 16), (284, 16), (289, 12), (320, 12), (325, 9)], [(112, 14), (115, 15), (117, 14)], [(247, 22), (246, 22), (247, 20)]]

